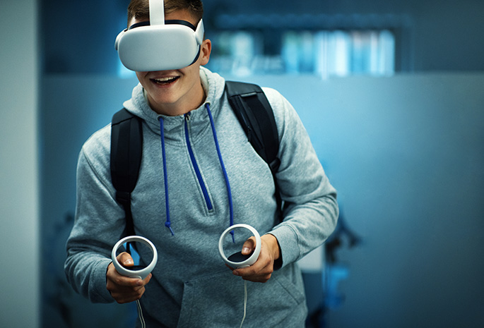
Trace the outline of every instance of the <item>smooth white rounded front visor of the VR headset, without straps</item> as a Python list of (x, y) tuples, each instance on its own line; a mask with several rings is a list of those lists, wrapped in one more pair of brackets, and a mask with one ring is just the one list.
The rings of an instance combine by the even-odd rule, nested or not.
[(185, 25), (148, 25), (123, 32), (117, 50), (131, 71), (167, 71), (194, 63), (199, 44), (194, 30)]

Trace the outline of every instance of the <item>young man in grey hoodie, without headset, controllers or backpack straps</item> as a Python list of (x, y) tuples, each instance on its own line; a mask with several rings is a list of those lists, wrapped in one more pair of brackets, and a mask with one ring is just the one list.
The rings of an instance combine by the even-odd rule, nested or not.
[[(129, 26), (149, 20), (148, 8), (148, 0), (132, 0)], [(165, 1), (166, 20), (196, 26), (202, 14), (199, 0)], [(293, 107), (264, 88), (280, 141), (276, 178), (286, 205), (281, 217), (271, 171), (247, 142), (225, 95), (225, 80), (201, 67), (210, 53), (211, 41), (203, 40), (198, 59), (187, 67), (136, 72), (140, 84), (124, 102), (143, 119), (143, 157), (131, 208), (136, 234), (158, 249), (152, 274), (144, 280), (124, 277), (110, 260), (125, 222), (110, 177), (107, 126), (79, 155), (66, 275), (93, 302), (140, 300), (147, 327), (238, 327), (244, 279), (252, 281), (246, 286), (245, 327), (304, 327), (307, 308), (296, 261), (334, 230), (336, 190)], [(261, 234), (261, 254), (251, 267), (228, 269), (218, 254), (218, 238), (230, 226), (230, 202), (234, 223)], [(251, 238), (242, 253), (253, 248)], [(149, 261), (149, 254), (140, 255)], [(127, 253), (118, 260), (133, 265)]]

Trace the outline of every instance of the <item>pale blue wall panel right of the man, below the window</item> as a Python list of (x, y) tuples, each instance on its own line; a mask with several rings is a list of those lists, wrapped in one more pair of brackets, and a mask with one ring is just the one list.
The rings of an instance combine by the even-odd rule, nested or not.
[(350, 277), (329, 327), (484, 324), (483, 78), (265, 81), (297, 107), (362, 237), (338, 254)]

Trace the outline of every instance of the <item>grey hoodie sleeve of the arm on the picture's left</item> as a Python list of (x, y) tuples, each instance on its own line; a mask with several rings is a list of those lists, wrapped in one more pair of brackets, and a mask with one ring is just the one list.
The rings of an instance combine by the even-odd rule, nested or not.
[(106, 152), (105, 147), (110, 145), (102, 132), (93, 135), (79, 154), (76, 218), (64, 264), (73, 289), (93, 303), (114, 301), (106, 288), (106, 272), (112, 247), (124, 230), (124, 212), (114, 200), (108, 171), (109, 149)]

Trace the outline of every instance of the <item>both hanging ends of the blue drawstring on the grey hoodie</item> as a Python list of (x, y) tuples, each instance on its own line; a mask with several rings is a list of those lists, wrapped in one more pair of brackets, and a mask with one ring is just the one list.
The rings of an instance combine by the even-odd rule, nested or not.
[[(218, 161), (220, 162), (220, 166), (222, 167), (223, 171), (223, 177), (225, 178), (225, 185), (227, 186), (227, 193), (228, 193), (228, 203), (229, 203), (229, 211), (230, 211), (230, 226), (234, 224), (234, 209), (232, 205), (232, 192), (230, 191), (230, 182), (228, 180), (228, 174), (227, 170), (225, 170), (225, 165), (223, 164), (223, 159), (222, 159), (222, 153), (220, 152), (220, 146), (218, 145), (218, 139), (217, 139), (217, 133), (215, 130), (215, 123), (213, 123), (213, 117), (212, 113), (210, 111), (210, 106), (205, 104), (205, 108), (208, 113), (208, 118), (210, 119), (210, 125), (212, 128), (212, 133), (213, 133), (213, 140), (215, 141), (215, 145), (217, 148), (217, 154), (218, 154)], [(165, 226), (170, 229), (170, 232), (172, 233), (172, 236), (175, 236), (175, 232), (173, 231), (171, 227), (171, 221), (170, 221), (170, 204), (168, 202), (168, 175), (167, 175), (167, 167), (166, 167), (166, 153), (165, 153), (165, 128), (163, 125), (163, 117), (159, 116), (158, 120), (160, 121), (160, 138), (161, 138), (161, 148), (162, 148), (162, 155), (163, 155), (163, 181), (165, 184), (165, 208), (166, 208), (166, 221), (165, 221)], [(230, 231), (230, 234), (232, 235), (232, 241), (235, 242), (234, 238), (234, 231)]]

